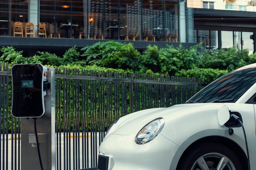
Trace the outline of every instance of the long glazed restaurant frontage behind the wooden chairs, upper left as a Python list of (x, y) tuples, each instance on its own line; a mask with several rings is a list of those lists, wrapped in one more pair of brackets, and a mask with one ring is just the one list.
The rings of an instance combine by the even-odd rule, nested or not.
[[(104, 0), (104, 4), (102, 0), (11, 2), (9, 5), (7, 0), (0, 0), (0, 35), (7, 35), (9, 30), (13, 36), (12, 25), (16, 21), (24, 24), (32, 22), (35, 29), (38, 23), (44, 22), (47, 36), (58, 32), (63, 38), (81, 38), (82, 34), (93, 39), (102, 39), (104, 36), (106, 39), (116, 39), (120, 34), (120, 39), (132, 37), (137, 40), (173, 41), (171, 39), (177, 39), (178, 35), (178, 9), (175, 1)], [(11, 23), (6, 24), (9, 17)], [(8, 26), (12, 28), (6, 28)]]

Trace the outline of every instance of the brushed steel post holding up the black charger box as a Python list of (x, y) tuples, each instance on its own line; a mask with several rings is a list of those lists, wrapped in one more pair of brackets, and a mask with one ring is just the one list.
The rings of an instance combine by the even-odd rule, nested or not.
[(45, 96), (45, 114), (36, 120), (21, 118), (21, 170), (40, 170), (34, 122), (44, 170), (55, 170), (55, 72), (47, 67), (50, 89)]

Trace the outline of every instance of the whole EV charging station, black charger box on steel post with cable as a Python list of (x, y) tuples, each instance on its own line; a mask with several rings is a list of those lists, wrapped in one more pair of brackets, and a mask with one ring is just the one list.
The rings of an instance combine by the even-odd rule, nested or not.
[(12, 115), (21, 119), (21, 170), (55, 170), (55, 70), (11, 68)]

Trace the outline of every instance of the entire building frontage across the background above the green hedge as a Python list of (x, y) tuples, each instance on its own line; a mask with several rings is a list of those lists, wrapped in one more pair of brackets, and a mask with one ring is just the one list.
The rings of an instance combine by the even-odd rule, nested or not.
[[(255, 51), (254, 0), (0, 0), (0, 46), (33, 54), (98, 41)], [(28, 26), (32, 23), (32, 26)], [(17, 25), (18, 24), (18, 25)], [(19, 28), (19, 24), (21, 24)]]

